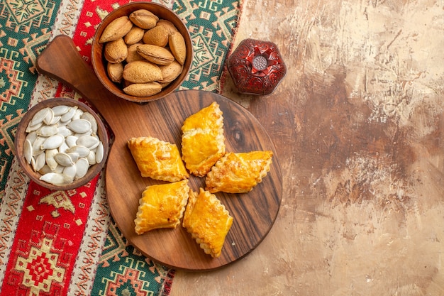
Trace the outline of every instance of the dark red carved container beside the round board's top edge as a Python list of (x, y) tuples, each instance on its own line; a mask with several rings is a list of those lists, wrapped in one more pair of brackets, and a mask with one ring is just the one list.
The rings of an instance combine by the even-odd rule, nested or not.
[(228, 71), (239, 92), (268, 95), (287, 74), (276, 44), (245, 39), (228, 57)]

